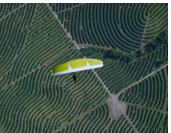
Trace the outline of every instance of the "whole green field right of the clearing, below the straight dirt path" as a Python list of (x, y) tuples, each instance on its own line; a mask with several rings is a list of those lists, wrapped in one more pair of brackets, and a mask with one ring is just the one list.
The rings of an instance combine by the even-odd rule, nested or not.
[[(128, 104), (127, 115), (141, 132), (166, 132), (168, 115), (167, 68), (157, 72), (119, 97)], [(146, 127), (146, 128), (144, 128)]]

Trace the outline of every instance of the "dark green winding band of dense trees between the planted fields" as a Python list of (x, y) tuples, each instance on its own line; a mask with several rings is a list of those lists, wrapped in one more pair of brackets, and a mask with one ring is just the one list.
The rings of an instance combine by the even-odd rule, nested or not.
[[(166, 40), (165, 40), (166, 39)], [(164, 42), (164, 44), (162, 44)], [(115, 49), (111, 50), (104, 50), (103, 48), (95, 48), (93, 46), (82, 49), (82, 52), (86, 56), (92, 56), (93, 54), (101, 53), (104, 58), (109, 58), (118, 61), (125, 61), (127, 63), (132, 62), (136, 58), (143, 57), (146, 54), (153, 52), (156, 49), (161, 48), (163, 45), (167, 45), (167, 33), (162, 32), (157, 36), (155, 40), (152, 40), (148, 45), (146, 45), (145, 50), (140, 49), (137, 50), (136, 53), (133, 54), (125, 54), (123, 52), (118, 52)], [(156, 66), (160, 66), (161, 64), (165, 63), (166, 59), (159, 60), (156, 62)]]

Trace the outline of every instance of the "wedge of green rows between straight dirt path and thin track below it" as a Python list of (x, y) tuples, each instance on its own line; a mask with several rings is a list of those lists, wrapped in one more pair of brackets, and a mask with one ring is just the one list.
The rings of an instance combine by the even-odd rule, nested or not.
[(167, 68), (149, 77), (122, 93), (120, 100), (136, 105), (166, 110), (167, 106)]

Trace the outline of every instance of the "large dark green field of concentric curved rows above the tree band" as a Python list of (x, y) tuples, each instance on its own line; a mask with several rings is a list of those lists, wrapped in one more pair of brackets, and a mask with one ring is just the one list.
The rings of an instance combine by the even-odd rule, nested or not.
[[(58, 13), (58, 18), (77, 43), (119, 48), (125, 52), (139, 49), (167, 28), (167, 4), (85, 4)], [(158, 14), (155, 14), (157, 7)], [(155, 22), (154, 22), (155, 20)]]

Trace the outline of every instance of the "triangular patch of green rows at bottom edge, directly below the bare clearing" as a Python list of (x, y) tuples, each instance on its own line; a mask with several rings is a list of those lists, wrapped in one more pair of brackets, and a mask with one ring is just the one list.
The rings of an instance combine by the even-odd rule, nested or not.
[(104, 132), (104, 133), (133, 133), (134, 130), (130, 123), (122, 116), (119, 120), (112, 120), (109, 116), (109, 107), (103, 104), (90, 114), (85, 115), (82, 119), (78, 119), (75, 123), (59, 132)]

